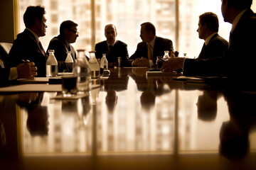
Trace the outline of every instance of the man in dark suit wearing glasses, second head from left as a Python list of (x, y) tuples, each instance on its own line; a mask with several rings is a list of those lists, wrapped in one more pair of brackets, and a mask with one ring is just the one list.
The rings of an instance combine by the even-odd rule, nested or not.
[(75, 62), (75, 48), (70, 44), (74, 43), (78, 38), (77, 27), (78, 24), (73, 21), (63, 21), (63, 23), (60, 24), (60, 35), (50, 40), (47, 55), (48, 50), (54, 50), (55, 58), (58, 61), (58, 72), (72, 72), (73, 70), (73, 64), (65, 63), (65, 59), (70, 51), (73, 61)]

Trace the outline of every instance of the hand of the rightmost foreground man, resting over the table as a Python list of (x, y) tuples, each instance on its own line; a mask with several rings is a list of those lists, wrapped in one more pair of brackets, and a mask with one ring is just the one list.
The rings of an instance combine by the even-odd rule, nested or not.
[(161, 67), (161, 72), (173, 72), (178, 69), (183, 69), (183, 62), (185, 58), (176, 57), (163, 62), (163, 66)]

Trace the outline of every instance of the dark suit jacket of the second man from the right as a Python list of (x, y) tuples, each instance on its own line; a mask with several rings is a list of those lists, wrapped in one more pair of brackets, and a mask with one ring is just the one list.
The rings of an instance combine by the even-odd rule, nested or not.
[(225, 50), (227, 49), (228, 49), (228, 41), (220, 37), (220, 35), (215, 34), (213, 35), (212, 38), (210, 38), (208, 45), (203, 47), (198, 58), (207, 59), (210, 57), (223, 57)]

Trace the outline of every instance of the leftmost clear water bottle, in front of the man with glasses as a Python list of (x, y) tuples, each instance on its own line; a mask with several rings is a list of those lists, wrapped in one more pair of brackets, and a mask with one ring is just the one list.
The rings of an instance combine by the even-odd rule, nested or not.
[(46, 77), (58, 76), (58, 62), (54, 56), (54, 50), (48, 50), (49, 56), (46, 60)]

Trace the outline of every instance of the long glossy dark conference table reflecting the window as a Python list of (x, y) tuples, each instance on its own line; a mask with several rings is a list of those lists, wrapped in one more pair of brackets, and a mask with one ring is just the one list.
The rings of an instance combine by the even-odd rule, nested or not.
[(256, 169), (254, 92), (148, 71), (110, 68), (81, 98), (0, 93), (0, 169)]

